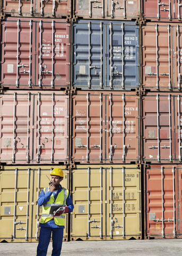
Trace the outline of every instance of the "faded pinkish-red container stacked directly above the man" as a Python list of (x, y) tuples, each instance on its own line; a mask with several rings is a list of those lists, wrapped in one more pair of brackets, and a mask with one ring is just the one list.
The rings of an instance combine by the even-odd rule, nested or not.
[(1, 163), (68, 163), (69, 95), (65, 92), (0, 95)]

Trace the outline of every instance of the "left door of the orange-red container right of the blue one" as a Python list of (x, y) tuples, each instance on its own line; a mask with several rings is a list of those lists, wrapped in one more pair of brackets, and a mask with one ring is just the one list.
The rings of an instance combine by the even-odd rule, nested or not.
[(151, 91), (172, 90), (174, 70), (171, 26), (160, 23), (142, 27), (142, 35), (142, 85)]

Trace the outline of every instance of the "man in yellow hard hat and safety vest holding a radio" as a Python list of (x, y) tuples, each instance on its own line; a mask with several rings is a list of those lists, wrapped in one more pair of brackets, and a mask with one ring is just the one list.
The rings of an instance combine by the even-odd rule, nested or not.
[[(42, 205), (37, 256), (46, 256), (51, 232), (53, 240), (53, 251), (51, 255), (60, 255), (63, 242), (65, 214), (72, 212), (74, 208), (68, 189), (60, 185), (60, 182), (64, 178), (62, 169), (56, 167), (51, 171), (50, 176), (50, 186), (42, 189), (37, 201), (38, 205)], [(63, 207), (56, 213), (49, 214), (50, 206), (54, 203), (61, 204)]]

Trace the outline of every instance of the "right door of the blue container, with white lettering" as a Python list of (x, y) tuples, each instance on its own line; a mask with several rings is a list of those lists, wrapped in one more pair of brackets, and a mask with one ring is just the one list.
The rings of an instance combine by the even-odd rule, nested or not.
[(139, 84), (137, 26), (107, 24), (107, 88), (131, 90)]

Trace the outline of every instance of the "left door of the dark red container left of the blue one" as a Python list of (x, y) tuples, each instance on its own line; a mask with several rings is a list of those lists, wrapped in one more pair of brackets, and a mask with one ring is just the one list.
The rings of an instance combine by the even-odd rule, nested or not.
[[(14, 2), (13, 2), (14, 3)], [(27, 3), (27, 2), (26, 2)], [(10, 19), (2, 22), (2, 81), (3, 86), (29, 89), (33, 83), (34, 26), (32, 20)]]

